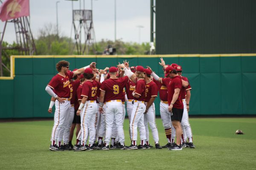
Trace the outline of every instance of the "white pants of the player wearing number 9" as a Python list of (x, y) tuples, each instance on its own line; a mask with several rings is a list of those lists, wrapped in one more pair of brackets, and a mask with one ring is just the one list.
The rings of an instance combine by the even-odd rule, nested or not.
[(117, 136), (119, 142), (124, 145), (125, 135), (123, 130), (123, 108), (122, 102), (118, 102), (116, 100), (111, 100), (111, 102), (106, 102), (105, 109), (105, 119), (106, 119), (106, 135), (105, 135), (105, 143), (106, 146), (111, 142), (113, 121), (116, 122)]

